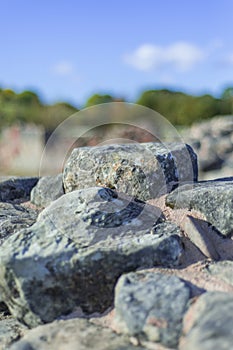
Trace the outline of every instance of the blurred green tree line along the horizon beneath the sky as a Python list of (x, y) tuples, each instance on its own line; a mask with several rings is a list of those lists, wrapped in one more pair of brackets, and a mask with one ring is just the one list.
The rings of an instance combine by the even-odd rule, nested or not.
[[(127, 102), (109, 94), (94, 94), (83, 107), (116, 101)], [(233, 87), (226, 88), (219, 97), (210, 94), (194, 96), (168, 89), (147, 90), (133, 102), (159, 112), (173, 125), (191, 125), (215, 115), (233, 114)], [(40, 124), (52, 130), (77, 111), (66, 102), (44, 104), (33, 91), (16, 93), (0, 89), (0, 128), (17, 122)]]

